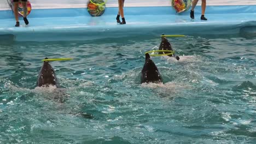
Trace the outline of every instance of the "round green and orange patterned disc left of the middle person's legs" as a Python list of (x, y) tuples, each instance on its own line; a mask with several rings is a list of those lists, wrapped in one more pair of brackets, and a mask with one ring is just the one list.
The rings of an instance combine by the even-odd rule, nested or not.
[(101, 16), (106, 8), (104, 0), (90, 0), (87, 4), (87, 10), (91, 16)]

